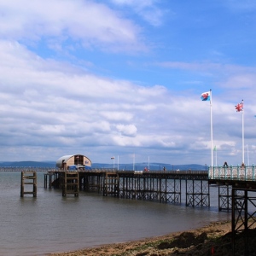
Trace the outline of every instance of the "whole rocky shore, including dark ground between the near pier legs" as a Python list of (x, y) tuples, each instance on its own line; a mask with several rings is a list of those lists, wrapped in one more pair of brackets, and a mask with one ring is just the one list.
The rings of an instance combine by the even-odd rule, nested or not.
[[(242, 234), (241, 234), (242, 235)], [(52, 253), (51, 256), (164, 256), (164, 255), (198, 255), (231, 256), (231, 223), (212, 223), (196, 230), (171, 233), (166, 236), (128, 241), (102, 247), (84, 248), (75, 252)], [(250, 230), (247, 255), (256, 255), (256, 233)], [(235, 255), (244, 254), (244, 237), (236, 238)]]

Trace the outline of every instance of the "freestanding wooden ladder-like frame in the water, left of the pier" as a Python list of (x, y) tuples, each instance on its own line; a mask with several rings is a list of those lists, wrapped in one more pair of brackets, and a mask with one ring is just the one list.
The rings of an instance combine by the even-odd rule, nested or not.
[[(37, 197), (37, 172), (24, 171), (21, 172), (20, 178), (20, 197), (26, 194), (33, 195)], [(32, 185), (32, 191), (25, 191), (28, 185)]]

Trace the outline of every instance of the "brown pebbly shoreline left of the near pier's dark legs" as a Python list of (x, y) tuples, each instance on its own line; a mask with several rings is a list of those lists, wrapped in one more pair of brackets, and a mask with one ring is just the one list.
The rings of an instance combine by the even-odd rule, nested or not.
[[(218, 254), (216, 240), (231, 232), (231, 221), (212, 222), (193, 230), (172, 232), (165, 236), (155, 236), (137, 241), (126, 241), (85, 247), (72, 252), (50, 253), (50, 256), (118, 256), (118, 255), (229, 255), (229, 252)], [(205, 253), (205, 254), (204, 254)], [(207, 254), (206, 254), (207, 253)]]

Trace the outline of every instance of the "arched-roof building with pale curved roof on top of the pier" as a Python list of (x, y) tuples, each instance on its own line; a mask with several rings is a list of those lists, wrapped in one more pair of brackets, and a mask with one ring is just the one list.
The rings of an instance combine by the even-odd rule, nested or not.
[(56, 166), (65, 171), (72, 169), (90, 169), (91, 160), (83, 154), (64, 155), (56, 161)]

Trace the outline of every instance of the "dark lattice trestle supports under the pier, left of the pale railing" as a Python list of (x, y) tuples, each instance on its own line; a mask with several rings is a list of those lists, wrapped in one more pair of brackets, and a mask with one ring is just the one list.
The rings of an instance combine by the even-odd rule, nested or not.
[[(186, 206), (210, 207), (208, 172), (206, 171), (117, 171), (94, 169), (78, 171), (79, 190), (103, 196), (181, 204), (182, 180), (186, 186)], [(64, 171), (44, 174), (44, 188), (65, 186)]]

